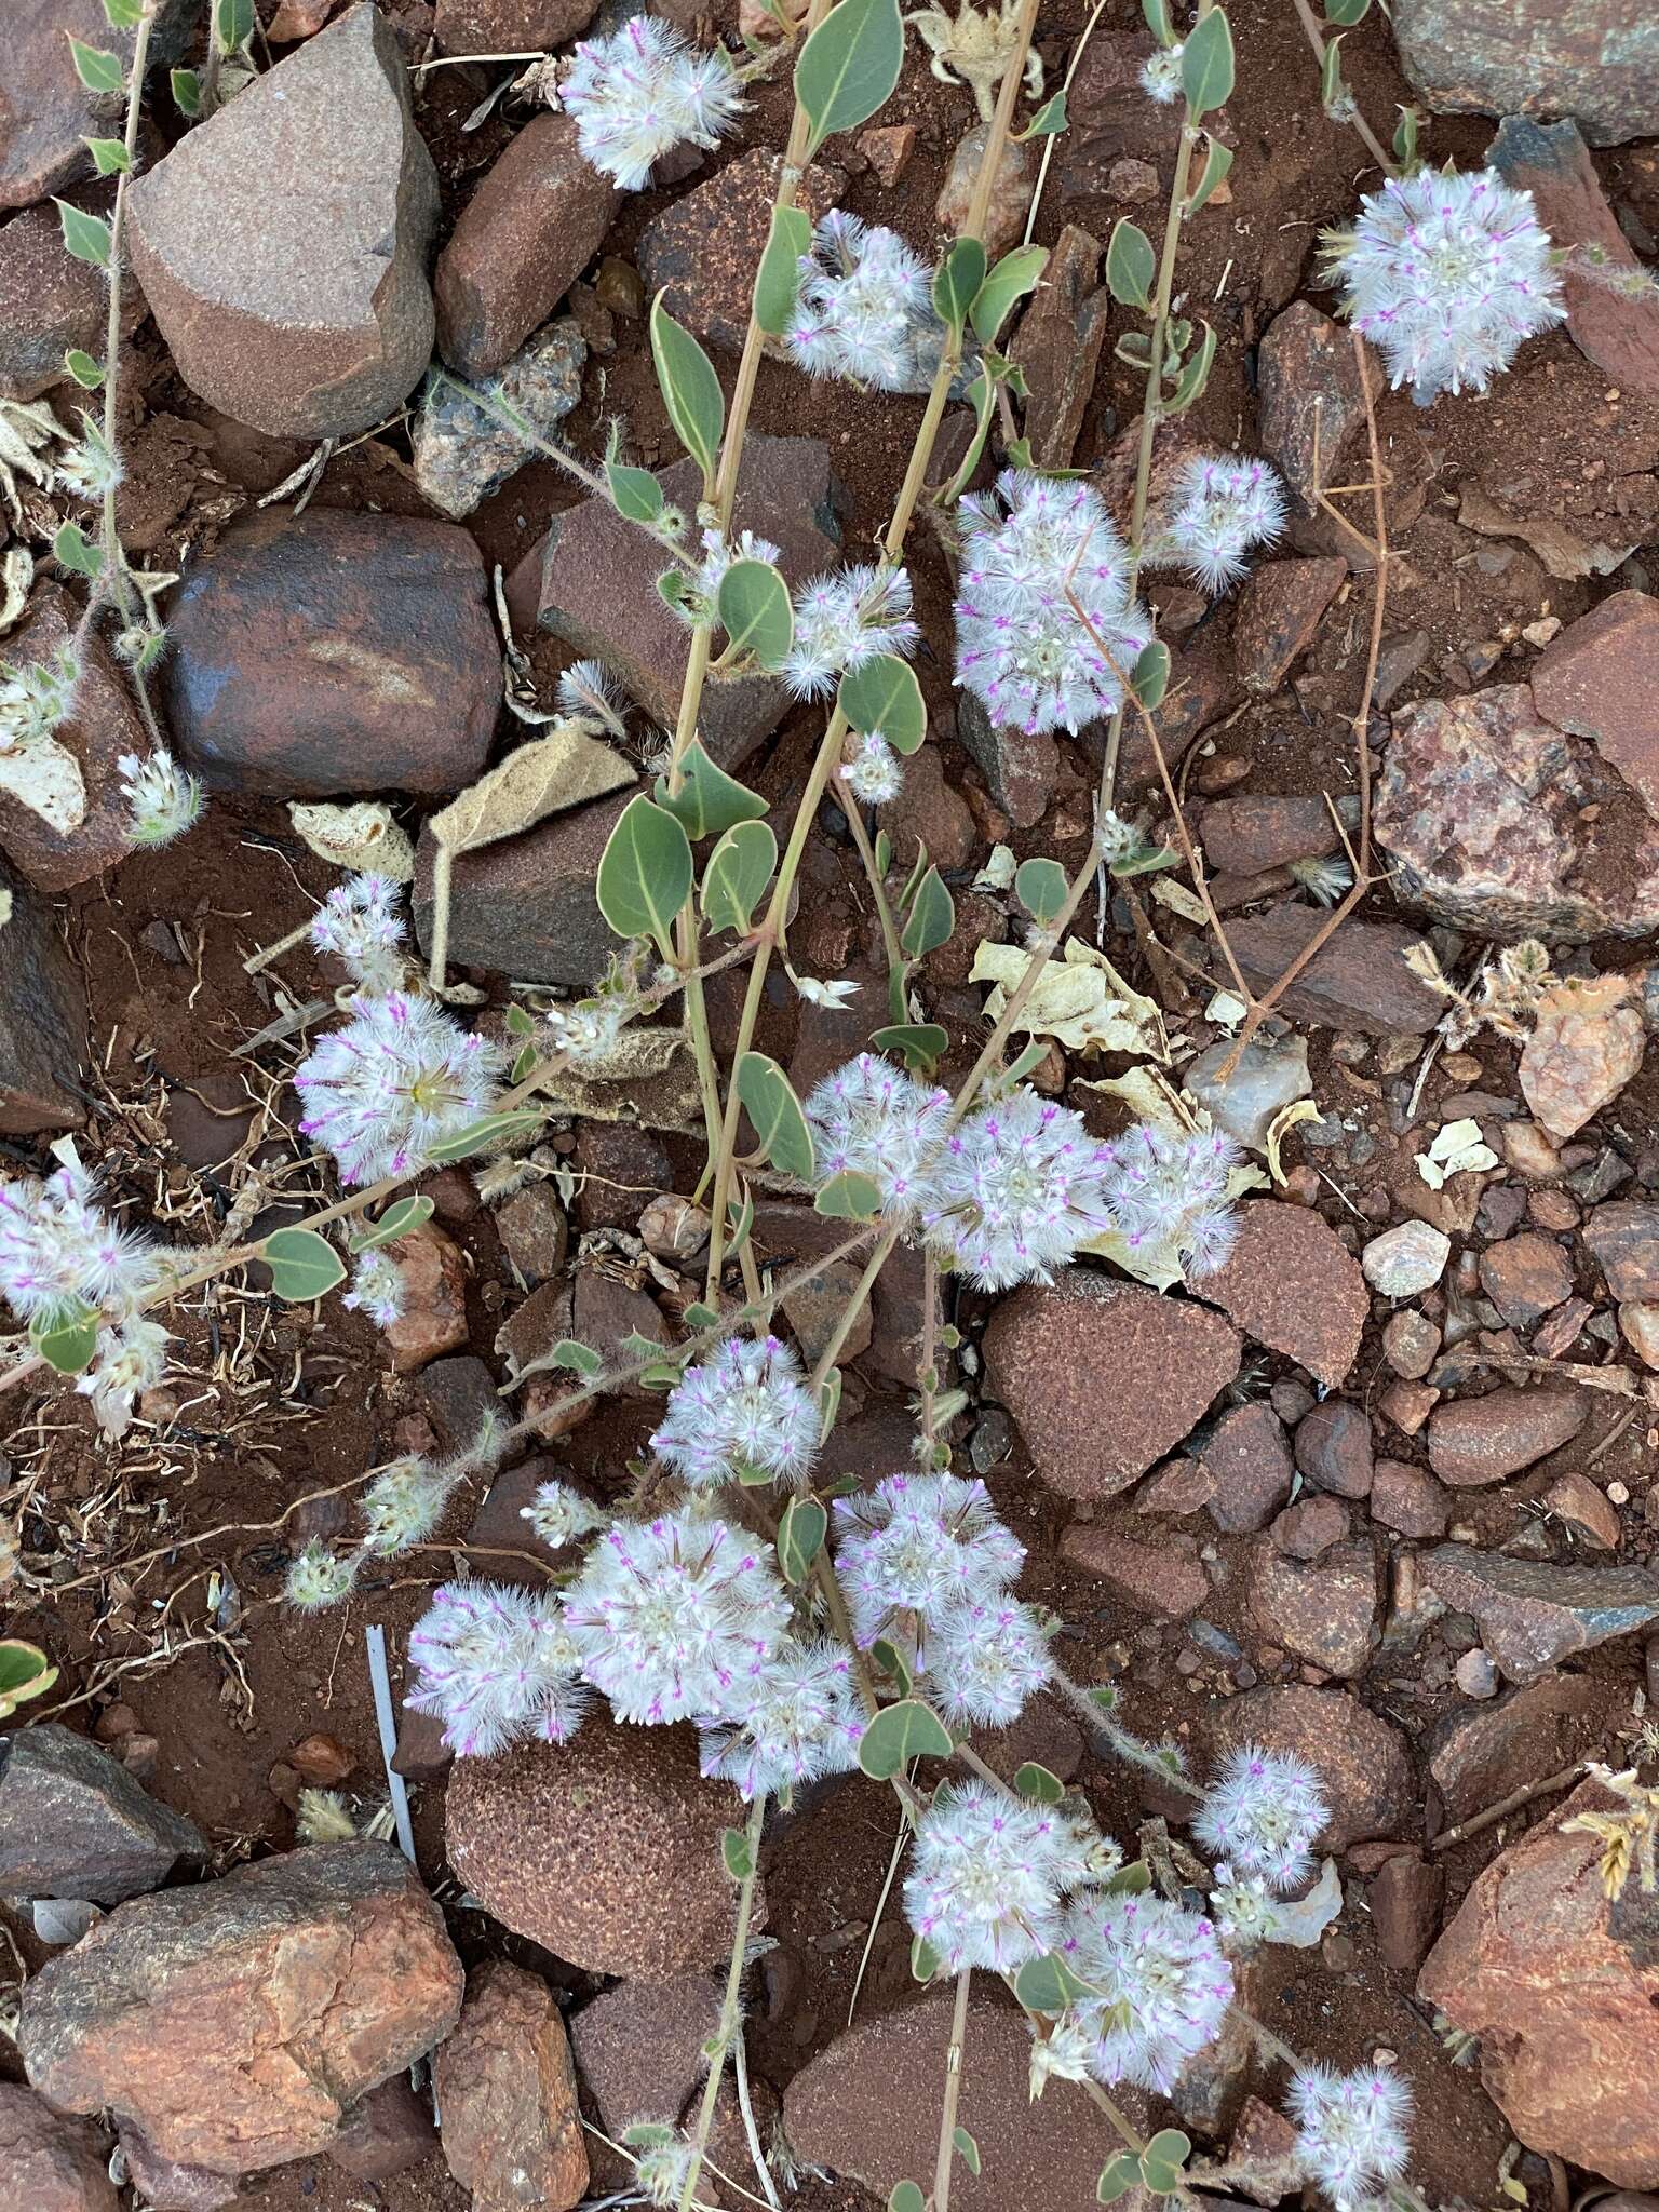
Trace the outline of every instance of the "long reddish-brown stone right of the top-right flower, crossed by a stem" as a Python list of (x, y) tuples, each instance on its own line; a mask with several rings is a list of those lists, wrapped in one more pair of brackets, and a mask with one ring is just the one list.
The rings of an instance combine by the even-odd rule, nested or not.
[[(1504, 184), (1533, 195), (1533, 212), (1559, 252), (1575, 257), (1579, 248), (1593, 248), (1606, 274), (1628, 270), (1641, 276), (1641, 261), (1619, 230), (1571, 117), (1537, 124), (1528, 115), (1509, 115), (1486, 148), (1486, 161)], [(1566, 334), (1584, 358), (1621, 392), (1659, 398), (1659, 301), (1624, 299), (1608, 283), (1582, 274), (1575, 259), (1562, 268), (1562, 292)]]

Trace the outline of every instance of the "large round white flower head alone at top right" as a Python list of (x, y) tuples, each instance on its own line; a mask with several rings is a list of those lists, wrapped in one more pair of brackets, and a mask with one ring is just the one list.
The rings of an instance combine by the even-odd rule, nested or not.
[(1484, 392), (1522, 341), (1566, 316), (1533, 195), (1493, 168), (1389, 177), (1327, 250), (1347, 316), (1418, 407)]

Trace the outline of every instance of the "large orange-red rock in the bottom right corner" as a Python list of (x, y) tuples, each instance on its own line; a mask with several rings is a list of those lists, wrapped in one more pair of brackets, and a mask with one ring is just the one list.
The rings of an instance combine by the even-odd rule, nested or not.
[(1601, 1843), (1562, 1816), (1617, 1812), (1582, 1785), (1480, 1874), (1418, 1995), (1480, 2037), (1480, 2079), (1535, 2150), (1621, 2188), (1659, 2183), (1659, 1951), (1635, 1885), (1608, 1907)]

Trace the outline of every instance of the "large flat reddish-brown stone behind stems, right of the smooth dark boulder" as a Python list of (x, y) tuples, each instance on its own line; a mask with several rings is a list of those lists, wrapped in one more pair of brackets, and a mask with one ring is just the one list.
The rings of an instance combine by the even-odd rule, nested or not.
[[(690, 460), (664, 469), (670, 507), (695, 513), (701, 476)], [(781, 549), (792, 586), (838, 562), (830, 507), (830, 451), (816, 438), (750, 438), (737, 478), (734, 529), (763, 531)], [(664, 728), (675, 726), (690, 630), (668, 613), (657, 575), (661, 551), (606, 500), (584, 500), (553, 520), (509, 584), (520, 624), (538, 622), (573, 653), (597, 655)], [(737, 770), (776, 730), (790, 706), (779, 677), (734, 677), (703, 690), (699, 732), (721, 768)]]

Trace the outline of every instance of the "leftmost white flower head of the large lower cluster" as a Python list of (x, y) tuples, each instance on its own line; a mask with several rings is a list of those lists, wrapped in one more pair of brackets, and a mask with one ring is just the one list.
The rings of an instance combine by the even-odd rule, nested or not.
[(557, 1595), (500, 1582), (449, 1582), (409, 1630), (416, 1688), (405, 1699), (445, 1723), (462, 1759), (520, 1736), (566, 1743), (586, 1708), (577, 1648)]

